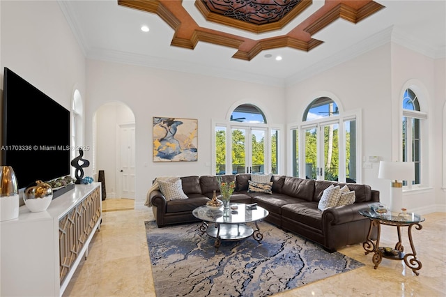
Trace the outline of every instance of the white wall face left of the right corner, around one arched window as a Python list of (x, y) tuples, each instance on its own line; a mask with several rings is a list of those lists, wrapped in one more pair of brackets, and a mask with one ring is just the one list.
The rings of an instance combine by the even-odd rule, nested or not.
[[(339, 100), (340, 109), (361, 109), (362, 136), (360, 155), (389, 158), (390, 143), (390, 45), (358, 56), (324, 73), (289, 86), (286, 90), (286, 120), (298, 123), (315, 98), (321, 93), (332, 93)], [(372, 188), (385, 188), (378, 180), (378, 163), (362, 169), (362, 183)], [(385, 195), (383, 195), (385, 198)]]

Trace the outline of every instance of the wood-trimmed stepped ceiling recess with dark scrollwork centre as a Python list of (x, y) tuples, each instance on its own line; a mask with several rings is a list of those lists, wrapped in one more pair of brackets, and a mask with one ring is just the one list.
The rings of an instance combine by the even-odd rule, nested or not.
[[(254, 56), (264, 50), (277, 49), (281, 47), (291, 47), (296, 50), (309, 52), (309, 50), (312, 50), (314, 47), (323, 43), (321, 40), (312, 38), (312, 35), (321, 29), (324, 29), (326, 26), (329, 26), (335, 20), (341, 18), (356, 24), (357, 22), (364, 20), (385, 7), (373, 0), (325, 1), (321, 8), (309, 15), (309, 17), (300, 22), (300, 24), (297, 24), (294, 28), (291, 28), (287, 33), (277, 30), (277, 35), (275, 36), (255, 40), (233, 33), (227, 33), (224, 31), (206, 28), (204, 26), (199, 26), (193, 17), (187, 13), (187, 10), (185, 10), (183, 7), (182, 2), (183, 0), (118, 0), (118, 5), (159, 15), (164, 22), (169, 24), (169, 26), (175, 30), (174, 38), (171, 41), (171, 45), (173, 46), (185, 47), (193, 50), (199, 41), (212, 43), (215, 45), (222, 45), (237, 50), (236, 54), (233, 54), (233, 58), (247, 61), (250, 61), (254, 58)], [(293, 20), (297, 15), (305, 10), (305, 8), (311, 6), (312, 4), (312, 0), (275, 0), (275, 6), (280, 6), (280, 3), (287, 3), (289, 11), (282, 13), (282, 11), (277, 10), (271, 15), (271, 19), (274, 18), (274, 21), (267, 22), (265, 24), (255, 24), (252, 21), (254, 18), (256, 19), (257, 23), (261, 22), (261, 20), (257, 20), (259, 15), (263, 15), (263, 19), (268, 18), (264, 16), (264, 9), (266, 9), (266, 6), (260, 5), (266, 4), (267, 2), (271, 3), (272, 1), (196, 0), (195, 5), (199, 11), (205, 15), (208, 21), (220, 22), (221, 24), (226, 24), (227, 26), (232, 26), (238, 29), (249, 30), (248, 28), (252, 28), (251, 31), (259, 33), (281, 29), (282, 26)], [(220, 10), (218, 10), (220, 13), (214, 13), (211, 12), (207, 6), (207, 4), (210, 5), (210, 3), (212, 3), (213, 6), (216, 6), (216, 3), (226, 3), (226, 8), (220, 8)], [(246, 20), (240, 20), (224, 15), (224, 11), (230, 10), (230, 3), (238, 3), (239, 5), (242, 5), (242, 3), (243, 5), (248, 3), (248, 6), (250, 3), (252, 6), (250, 6), (249, 11), (253, 13), (253, 15), (249, 17), (249, 20), (251, 21), (247, 22)], [(294, 6), (292, 6), (291, 3), (293, 3)], [(238, 9), (240, 7), (237, 6)], [(245, 10), (245, 16), (247, 13), (248, 10)]]

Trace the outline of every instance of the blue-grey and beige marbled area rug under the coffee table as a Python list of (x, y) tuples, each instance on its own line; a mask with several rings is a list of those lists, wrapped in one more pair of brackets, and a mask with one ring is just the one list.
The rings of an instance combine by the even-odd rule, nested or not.
[(159, 297), (270, 296), (364, 266), (267, 222), (259, 222), (261, 243), (252, 236), (222, 241), (218, 252), (199, 223), (145, 224)]

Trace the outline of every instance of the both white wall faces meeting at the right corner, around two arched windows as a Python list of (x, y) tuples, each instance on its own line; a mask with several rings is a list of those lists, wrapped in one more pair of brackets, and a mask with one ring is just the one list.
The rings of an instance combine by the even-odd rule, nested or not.
[[(307, 105), (322, 92), (332, 93), (345, 111), (362, 110), (361, 156), (398, 160), (401, 151), (401, 90), (409, 79), (422, 82), (429, 106), (429, 187), (405, 192), (408, 209), (420, 213), (446, 211), (441, 190), (443, 165), (443, 105), (445, 105), (445, 59), (431, 59), (387, 43), (351, 61), (335, 66), (286, 90), (286, 119), (298, 123)], [(378, 163), (362, 169), (362, 183), (380, 190), (380, 200), (390, 203), (390, 181), (378, 179)]]

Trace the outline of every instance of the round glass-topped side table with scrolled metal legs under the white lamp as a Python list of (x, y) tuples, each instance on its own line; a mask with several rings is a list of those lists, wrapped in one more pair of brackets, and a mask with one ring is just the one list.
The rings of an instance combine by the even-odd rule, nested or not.
[[(415, 275), (419, 275), (418, 271), (422, 268), (422, 264), (421, 261), (417, 259), (417, 252), (415, 251), (415, 245), (413, 245), (412, 227), (415, 226), (415, 229), (421, 230), (422, 224), (420, 223), (424, 222), (424, 218), (417, 213), (403, 214), (392, 213), (390, 211), (386, 213), (377, 213), (372, 208), (363, 209), (360, 211), (360, 214), (371, 220), (369, 234), (367, 235), (367, 240), (362, 244), (362, 247), (365, 250), (365, 254), (369, 254), (369, 252), (374, 253), (374, 257), (372, 258), (372, 261), (375, 264), (374, 268), (378, 268), (378, 265), (381, 263), (383, 258), (403, 260), (406, 266), (412, 269)], [(395, 245), (395, 248), (379, 246), (382, 224), (397, 227), (398, 242)], [(371, 239), (371, 233), (374, 227), (376, 227), (378, 231), (375, 242)], [(408, 227), (408, 239), (410, 248), (412, 249), (411, 253), (404, 253), (404, 247), (401, 243), (401, 227)]]

